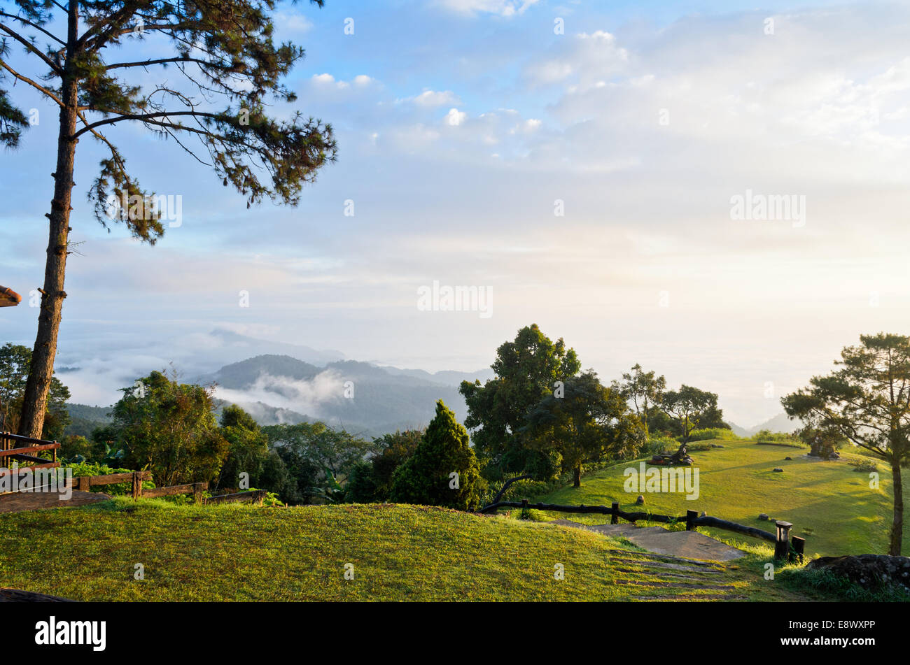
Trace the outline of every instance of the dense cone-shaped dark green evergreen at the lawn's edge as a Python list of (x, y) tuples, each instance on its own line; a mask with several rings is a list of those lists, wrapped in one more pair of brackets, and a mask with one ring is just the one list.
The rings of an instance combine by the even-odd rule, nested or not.
[(481, 485), (468, 431), (442, 400), (436, 402), (436, 415), (423, 440), (395, 471), (389, 499), (467, 511), (480, 500)]

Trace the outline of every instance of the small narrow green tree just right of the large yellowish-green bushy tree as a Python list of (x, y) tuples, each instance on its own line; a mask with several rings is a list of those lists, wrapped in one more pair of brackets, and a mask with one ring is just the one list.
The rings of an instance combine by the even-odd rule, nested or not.
[(239, 487), (240, 474), (248, 474), (248, 487), (264, 487), (260, 481), (262, 464), (268, 457), (268, 437), (259, 429), (258, 422), (237, 404), (221, 412), (221, 435), (227, 441), (227, 458), (218, 473), (216, 487)]

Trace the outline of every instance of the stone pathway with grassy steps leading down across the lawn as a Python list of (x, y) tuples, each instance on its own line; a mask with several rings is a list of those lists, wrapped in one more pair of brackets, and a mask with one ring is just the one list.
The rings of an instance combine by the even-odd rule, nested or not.
[[(580, 524), (571, 520), (544, 522), (556, 526), (595, 531), (605, 536), (622, 537), (651, 553), (609, 550), (617, 572), (629, 579), (617, 584), (642, 588), (630, 600), (748, 600), (738, 594), (723, 562), (745, 556), (721, 541), (695, 531), (667, 531), (662, 527), (637, 527), (634, 524)], [(660, 581), (653, 581), (655, 576)], [(651, 593), (645, 593), (651, 591)], [(712, 591), (694, 594), (693, 591)]]

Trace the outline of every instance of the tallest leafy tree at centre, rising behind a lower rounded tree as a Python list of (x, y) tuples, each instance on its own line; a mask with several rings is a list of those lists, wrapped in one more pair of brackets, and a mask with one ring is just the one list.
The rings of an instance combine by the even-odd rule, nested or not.
[(461, 382), (459, 390), (468, 404), (464, 422), (484, 473), (496, 480), (541, 462), (519, 431), (528, 412), (559, 390), (558, 382), (580, 372), (581, 363), (561, 338), (551, 342), (534, 323), (522, 328), (514, 341), (501, 344), (490, 366), (494, 378), (482, 386), (480, 381)]

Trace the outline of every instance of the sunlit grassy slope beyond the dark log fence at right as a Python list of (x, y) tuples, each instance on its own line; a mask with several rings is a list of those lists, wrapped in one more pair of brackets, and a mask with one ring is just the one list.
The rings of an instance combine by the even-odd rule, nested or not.
[[(805, 449), (757, 445), (748, 440), (718, 441), (723, 449), (693, 452), (699, 468), (701, 492), (696, 501), (682, 494), (645, 493), (645, 505), (635, 506), (639, 492), (626, 493), (623, 469), (638, 468), (638, 462), (622, 463), (585, 476), (581, 488), (564, 487), (541, 499), (549, 503), (610, 505), (619, 501), (624, 511), (647, 510), (664, 515), (684, 515), (687, 510), (706, 511), (723, 520), (736, 521), (773, 532), (773, 522), (759, 521), (760, 512), (772, 519), (793, 522), (792, 534), (805, 538), (807, 554), (838, 555), (888, 549), (892, 518), (891, 471), (879, 463), (880, 485), (869, 488), (867, 472), (854, 471), (845, 460), (863, 459), (842, 451), (840, 462), (810, 462), (801, 459)], [(785, 461), (784, 457), (793, 457)], [(784, 469), (773, 472), (774, 467)], [(905, 495), (910, 473), (904, 474)], [(561, 515), (566, 517), (565, 514)], [(552, 517), (557, 517), (552, 513)], [(572, 520), (603, 523), (602, 515), (577, 515)], [(751, 538), (730, 531), (700, 529), (733, 544)], [(904, 551), (910, 551), (910, 529), (904, 530)]]

